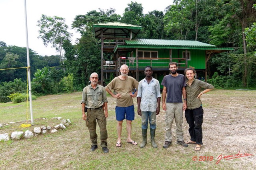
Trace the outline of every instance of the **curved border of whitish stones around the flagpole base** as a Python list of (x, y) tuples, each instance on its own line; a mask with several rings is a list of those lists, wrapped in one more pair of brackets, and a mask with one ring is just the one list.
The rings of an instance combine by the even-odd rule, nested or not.
[[(54, 117), (52, 119), (62, 119), (62, 117)], [(14, 122), (10, 122), (11, 124)], [(66, 129), (66, 127), (69, 127), (71, 125), (70, 119), (62, 119), (62, 122), (54, 127), (51, 126), (42, 126), (42, 127), (34, 127), (33, 131), (15, 131), (10, 133), (4, 133), (0, 134), (0, 141), (9, 141), (9, 140), (20, 140), (20, 139), (28, 139), (30, 137), (35, 137), (40, 134), (45, 134), (48, 131), (50, 133), (56, 133), (58, 130)], [(0, 124), (0, 127), (3, 127), (3, 124)]]

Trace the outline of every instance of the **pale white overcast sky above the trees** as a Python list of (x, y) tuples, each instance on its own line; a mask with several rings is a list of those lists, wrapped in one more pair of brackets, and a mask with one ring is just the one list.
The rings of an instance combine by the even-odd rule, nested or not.
[[(172, 4), (172, 0), (0, 0), (0, 41), (4, 41), (7, 46), (15, 45), (26, 47), (26, 25), (25, 25), (25, 7), (28, 27), (28, 47), (38, 53), (38, 55), (59, 55), (51, 44), (44, 46), (42, 39), (38, 39), (37, 21), (42, 14), (46, 16), (58, 16), (65, 18), (66, 24), (71, 28), (72, 22), (77, 15), (86, 15), (87, 12), (96, 10), (107, 10), (114, 8), (116, 14), (124, 13), (127, 4), (137, 2), (142, 4), (143, 14), (153, 10), (163, 11)], [(72, 43), (80, 34), (73, 29)]]

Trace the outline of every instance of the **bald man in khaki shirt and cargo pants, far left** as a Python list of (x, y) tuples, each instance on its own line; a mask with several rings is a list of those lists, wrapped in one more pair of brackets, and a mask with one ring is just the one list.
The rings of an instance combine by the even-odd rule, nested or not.
[[(90, 132), (92, 142), (91, 151), (98, 147), (96, 134), (96, 121), (100, 127), (100, 146), (104, 153), (108, 153), (108, 133), (106, 129), (108, 117), (108, 100), (106, 90), (98, 84), (98, 74), (92, 73), (90, 76), (91, 84), (86, 86), (82, 93), (82, 118), (86, 121), (86, 126)], [(85, 114), (87, 109), (87, 115)]]

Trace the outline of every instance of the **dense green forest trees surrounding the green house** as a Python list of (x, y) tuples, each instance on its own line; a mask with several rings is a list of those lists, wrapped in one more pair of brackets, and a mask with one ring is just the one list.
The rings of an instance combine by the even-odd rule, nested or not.
[[(60, 55), (40, 56), (30, 49), (32, 92), (36, 95), (82, 90), (92, 72), (100, 73), (100, 43), (92, 25), (122, 22), (142, 26), (137, 38), (196, 40), (234, 51), (214, 55), (208, 61), (208, 82), (216, 88), (256, 88), (256, 0), (173, 0), (163, 11), (143, 14), (143, 6), (131, 1), (122, 16), (115, 9), (92, 10), (77, 15), (72, 29), (81, 38), (72, 45), (65, 19), (42, 15), (38, 38)], [(109, 54), (104, 54), (109, 58)], [(0, 69), (27, 66), (26, 48), (0, 41)], [(112, 75), (108, 76), (110, 81)], [(0, 102), (26, 92), (26, 68), (0, 70)]]

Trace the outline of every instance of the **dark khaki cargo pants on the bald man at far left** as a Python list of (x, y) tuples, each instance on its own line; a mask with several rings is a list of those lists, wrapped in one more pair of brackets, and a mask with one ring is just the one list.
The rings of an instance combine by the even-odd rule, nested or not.
[(100, 127), (100, 141), (101, 141), (100, 146), (107, 147), (108, 146), (108, 143), (107, 143), (108, 133), (107, 133), (107, 129), (106, 129), (107, 121), (106, 121), (104, 111), (102, 108), (95, 109), (95, 110), (88, 109), (87, 110), (86, 126), (88, 127), (89, 132), (90, 132), (90, 139), (92, 142), (92, 146), (98, 145), (98, 143), (97, 143), (98, 136), (96, 134), (96, 120)]

